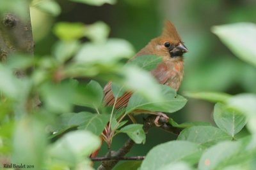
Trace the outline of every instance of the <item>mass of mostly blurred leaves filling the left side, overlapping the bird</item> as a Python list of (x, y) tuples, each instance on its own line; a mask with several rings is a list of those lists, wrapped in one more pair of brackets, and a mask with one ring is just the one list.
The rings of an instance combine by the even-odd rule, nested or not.
[[(59, 12), (55, 1), (33, 1), (32, 5), (51, 15)], [(122, 60), (134, 55), (133, 47), (125, 39), (108, 38), (104, 22), (60, 22), (53, 32), (60, 40), (49, 55), (13, 53), (0, 64), (0, 150), (1, 157), (10, 157), (8, 162), (35, 169), (92, 169), (88, 156), (99, 147), (98, 136), (109, 121), (115, 135), (122, 132), (136, 143), (145, 143), (143, 125), (127, 125), (116, 111), (105, 108), (102, 86), (95, 80), (113, 80), (117, 87), (136, 91), (131, 102), (143, 101), (146, 110), (164, 106), (173, 112), (186, 103), (147, 72), (161, 62), (156, 56), (124, 64)], [(90, 41), (81, 41), (85, 37)], [(16, 69), (28, 74), (17, 78)], [(91, 81), (77, 81), (81, 78)], [(36, 106), (39, 99), (41, 106)], [(76, 112), (78, 106), (82, 112)], [(122, 114), (138, 107), (129, 104)]]

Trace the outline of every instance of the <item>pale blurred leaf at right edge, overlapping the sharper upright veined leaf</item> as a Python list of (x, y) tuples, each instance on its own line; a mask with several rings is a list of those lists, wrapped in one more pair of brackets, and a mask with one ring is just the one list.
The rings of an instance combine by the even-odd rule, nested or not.
[(246, 115), (250, 132), (256, 133), (256, 95), (239, 94), (227, 101), (227, 106)]

